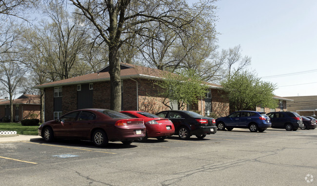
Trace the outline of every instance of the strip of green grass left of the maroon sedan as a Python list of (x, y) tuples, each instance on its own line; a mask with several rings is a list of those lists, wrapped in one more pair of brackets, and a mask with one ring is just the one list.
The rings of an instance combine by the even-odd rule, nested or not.
[(0, 131), (17, 131), (17, 134), (21, 135), (39, 135), (39, 126), (23, 126), (20, 123), (0, 123)]

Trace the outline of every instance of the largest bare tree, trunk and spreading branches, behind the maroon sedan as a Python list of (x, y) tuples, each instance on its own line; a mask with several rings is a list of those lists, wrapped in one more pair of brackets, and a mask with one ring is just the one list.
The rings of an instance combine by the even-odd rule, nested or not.
[[(121, 110), (119, 49), (135, 35), (151, 33), (150, 22), (160, 22), (176, 34), (198, 17), (185, 0), (70, 0), (95, 26), (109, 53), (111, 109)], [(209, 8), (215, 0), (206, 0)], [(79, 13), (79, 12), (78, 12)]]

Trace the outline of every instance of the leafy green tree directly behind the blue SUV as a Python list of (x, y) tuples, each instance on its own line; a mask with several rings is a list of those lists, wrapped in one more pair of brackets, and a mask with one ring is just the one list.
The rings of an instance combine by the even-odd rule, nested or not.
[(230, 80), (222, 82), (221, 85), (228, 93), (231, 112), (254, 111), (259, 105), (272, 109), (277, 107), (277, 100), (273, 98), (276, 85), (262, 81), (251, 72), (238, 72)]

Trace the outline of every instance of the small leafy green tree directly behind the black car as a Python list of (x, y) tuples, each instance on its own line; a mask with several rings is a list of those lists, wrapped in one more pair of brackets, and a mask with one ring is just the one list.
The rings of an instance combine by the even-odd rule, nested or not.
[(200, 76), (190, 69), (178, 74), (166, 73), (164, 79), (155, 84), (160, 87), (160, 95), (164, 98), (163, 104), (173, 109), (171, 104), (176, 101), (180, 110), (184, 110), (187, 104), (198, 103), (198, 99), (205, 96), (208, 88)]

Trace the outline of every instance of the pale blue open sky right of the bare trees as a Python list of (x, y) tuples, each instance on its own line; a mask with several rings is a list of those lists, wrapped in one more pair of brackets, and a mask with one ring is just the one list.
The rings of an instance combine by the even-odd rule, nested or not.
[[(196, 1), (196, 0), (195, 0)], [(275, 95), (317, 95), (317, 0), (219, 0), (220, 49), (240, 45)]]

